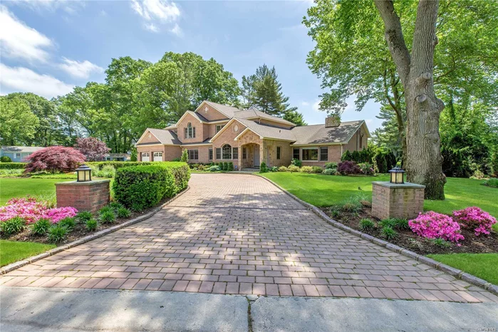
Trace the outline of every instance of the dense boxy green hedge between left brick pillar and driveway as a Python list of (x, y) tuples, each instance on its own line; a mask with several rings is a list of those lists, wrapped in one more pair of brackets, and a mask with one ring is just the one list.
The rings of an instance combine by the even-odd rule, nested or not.
[[(127, 162), (130, 163), (130, 162)], [(142, 211), (185, 189), (190, 170), (185, 162), (118, 167), (113, 182), (114, 198), (125, 207)]]

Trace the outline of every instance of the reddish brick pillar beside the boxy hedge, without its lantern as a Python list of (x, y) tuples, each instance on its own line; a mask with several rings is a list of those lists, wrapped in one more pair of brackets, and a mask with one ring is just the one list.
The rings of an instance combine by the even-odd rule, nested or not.
[(57, 207), (97, 212), (110, 201), (110, 180), (56, 183)]

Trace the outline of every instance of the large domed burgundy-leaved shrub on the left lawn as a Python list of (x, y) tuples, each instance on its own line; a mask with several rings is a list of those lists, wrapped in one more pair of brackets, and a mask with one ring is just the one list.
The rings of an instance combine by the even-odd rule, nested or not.
[(85, 161), (85, 156), (73, 147), (44, 147), (28, 156), (24, 172), (72, 172)]

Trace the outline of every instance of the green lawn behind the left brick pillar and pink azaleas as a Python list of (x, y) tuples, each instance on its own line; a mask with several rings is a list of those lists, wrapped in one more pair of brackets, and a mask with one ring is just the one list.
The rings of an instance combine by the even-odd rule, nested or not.
[(0, 179), (0, 205), (14, 197), (51, 196), (56, 193), (56, 183), (71, 181), (69, 179)]

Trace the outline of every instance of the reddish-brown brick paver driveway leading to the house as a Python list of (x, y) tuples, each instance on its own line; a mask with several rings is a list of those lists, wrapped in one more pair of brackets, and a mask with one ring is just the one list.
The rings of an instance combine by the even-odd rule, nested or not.
[(0, 279), (4, 286), (498, 301), (336, 229), (264, 179), (192, 175), (154, 217)]

